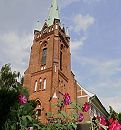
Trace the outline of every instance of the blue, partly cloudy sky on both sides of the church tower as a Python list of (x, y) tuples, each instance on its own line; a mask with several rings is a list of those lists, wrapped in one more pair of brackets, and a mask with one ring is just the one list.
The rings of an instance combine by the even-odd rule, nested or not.
[[(58, 0), (61, 23), (69, 27), (72, 70), (106, 108), (121, 111), (121, 1)], [(0, 0), (0, 67), (28, 65), (33, 29), (47, 18), (50, 0)]]

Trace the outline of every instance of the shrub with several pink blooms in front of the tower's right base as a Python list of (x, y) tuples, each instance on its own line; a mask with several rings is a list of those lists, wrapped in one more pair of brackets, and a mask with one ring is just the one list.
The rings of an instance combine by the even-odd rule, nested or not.
[(62, 100), (58, 100), (58, 103), (53, 106), (56, 107), (57, 112), (47, 113), (48, 125), (46, 128), (50, 130), (76, 130), (77, 124), (84, 120), (81, 112), (88, 112), (90, 109), (90, 104), (87, 102), (83, 106), (80, 103), (71, 102), (69, 93), (65, 93)]

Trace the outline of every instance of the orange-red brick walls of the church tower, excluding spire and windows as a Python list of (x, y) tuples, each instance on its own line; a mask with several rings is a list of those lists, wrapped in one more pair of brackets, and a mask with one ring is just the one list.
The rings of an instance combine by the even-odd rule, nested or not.
[[(58, 98), (62, 98), (62, 94), (68, 92), (71, 96), (71, 100), (77, 101), (77, 88), (74, 75), (71, 72), (70, 63), (70, 45), (66, 38), (65, 32), (58, 25), (58, 29), (55, 29), (56, 25), (47, 28), (47, 33), (42, 34), (42, 31), (35, 32), (35, 38), (33, 41), (29, 67), (24, 76), (24, 87), (29, 89), (30, 99), (39, 99), (41, 101), (42, 116), (41, 121), (46, 122), (45, 114), (52, 110), (51, 103), (53, 103), (53, 94), (56, 92)], [(52, 30), (53, 28), (53, 30)], [(50, 30), (50, 31), (49, 31)], [(61, 46), (62, 49), (61, 49)], [(47, 48), (46, 65), (41, 65), (42, 50)], [(62, 70), (60, 70), (60, 51), (62, 51)], [(42, 67), (46, 67), (42, 70)], [(37, 90), (34, 92), (35, 81), (42, 81), (46, 78), (46, 90)], [(42, 83), (43, 86), (43, 83)], [(59, 93), (60, 91), (60, 93)], [(82, 102), (87, 99), (81, 99)], [(53, 110), (52, 110), (53, 111)], [(88, 114), (86, 114), (86, 118)]]

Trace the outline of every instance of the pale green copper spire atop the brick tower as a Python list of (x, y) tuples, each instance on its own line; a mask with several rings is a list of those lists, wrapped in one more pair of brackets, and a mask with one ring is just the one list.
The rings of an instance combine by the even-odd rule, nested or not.
[(51, 1), (51, 7), (49, 9), (49, 14), (47, 18), (47, 25), (51, 26), (53, 24), (54, 19), (59, 19), (59, 10), (57, 6), (57, 0)]

